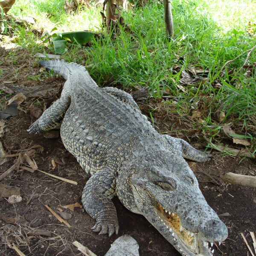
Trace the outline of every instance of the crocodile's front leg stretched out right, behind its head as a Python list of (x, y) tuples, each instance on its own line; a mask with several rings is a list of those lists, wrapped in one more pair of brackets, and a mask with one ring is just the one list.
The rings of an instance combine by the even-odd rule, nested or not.
[(179, 151), (182, 152), (182, 156), (186, 159), (196, 161), (196, 162), (207, 162), (211, 160), (212, 155), (204, 153), (187, 143), (185, 140), (171, 137), (169, 135), (163, 135), (166, 142), (171, 147), (171, 150), (174, 153), (179, 154)]

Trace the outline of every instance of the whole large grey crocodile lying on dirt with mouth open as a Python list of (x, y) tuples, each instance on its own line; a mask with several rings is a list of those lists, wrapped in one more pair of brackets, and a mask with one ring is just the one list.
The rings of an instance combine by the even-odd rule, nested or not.
[(186, 159), (211, 155), (185, 140), (159, 134), (131, 95), (99, 87), (87, 70), (63, 60), (40, 61), (67, 81), (57, 99), (28, 129), (60, 128), (65, 148), (90, 175), (82, 192), (92, 230), (118, 233), (117, 195), (145, 218), (183, 256), (212, 256), (209, 246), (227, 238), (227, 227), (209, 207)]

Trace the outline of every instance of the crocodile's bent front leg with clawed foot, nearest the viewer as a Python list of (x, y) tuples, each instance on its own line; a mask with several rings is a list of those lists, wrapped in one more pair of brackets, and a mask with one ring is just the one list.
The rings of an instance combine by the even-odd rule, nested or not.
[(116, 175), (110, 169), (96, 172), (87, 181), (82, 194), (82, 203), (87, 213), (96, 224), (92, 227), (99, 235), (108, 233), (111, 236), (119, 230), (116, 208), (111, 201), (116, 189)]

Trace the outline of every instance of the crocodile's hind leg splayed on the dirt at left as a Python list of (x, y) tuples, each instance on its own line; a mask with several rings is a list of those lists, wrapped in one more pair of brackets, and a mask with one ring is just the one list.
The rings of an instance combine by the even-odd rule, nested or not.
[(43, 131), (60, 128), (64, 114), (70, 105), (68, 97), (56, 100), (27, 130), (29, 133), (38, 134)]

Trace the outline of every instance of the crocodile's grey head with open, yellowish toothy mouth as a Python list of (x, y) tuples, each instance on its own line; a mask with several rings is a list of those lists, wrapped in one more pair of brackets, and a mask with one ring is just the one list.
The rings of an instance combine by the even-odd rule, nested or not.
[(161, 167), (147, 164), (131, 176), (137, 212), (181, 255), (212, 256), (211, 246), (227, 238), (227, 227), (207, 204), (186, 161), (175, 155), (171, 160)]

